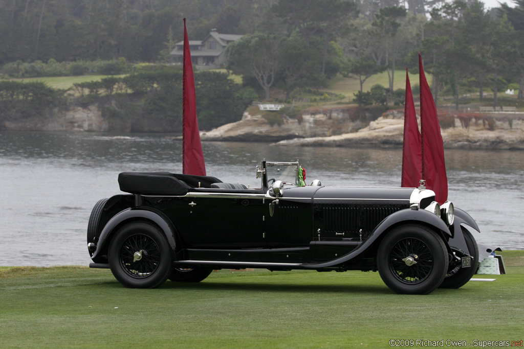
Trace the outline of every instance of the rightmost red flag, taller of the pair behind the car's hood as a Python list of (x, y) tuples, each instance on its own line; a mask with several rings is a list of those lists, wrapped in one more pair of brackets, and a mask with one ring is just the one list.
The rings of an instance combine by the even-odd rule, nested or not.
[(420, 133), (422, 144), (422, 176), (428, 189), (435, 192), (435, 201), (447, 199), (447, 177), (444, 163), (444, 144), (440, 133), (433, 95), (425, 78), (419, 53), (420, 78)]

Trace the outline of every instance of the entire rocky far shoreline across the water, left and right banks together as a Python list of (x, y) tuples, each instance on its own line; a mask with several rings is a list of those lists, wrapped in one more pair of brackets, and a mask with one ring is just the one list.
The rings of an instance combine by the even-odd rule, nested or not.
[[(302, 111), (298, 118), (283, 115), (280, 125), (247, 111), (242, 120), (201, 132), (202, 141), (259, 141), (276, 146), (400, 148), (403, 112), (391, 110), (375, 121), (359, 121), (354, 107), (323, 107)], [(488, 121), (486, 121), (488, 120)], [(475, 114), (467, 127), (458, 117), (442, 129), (446, 149), (524, 150), (524, 113)], [(74, 108), (47, 120), (4, 121), (4, 130), (119, 131), (102, 118), (96, 106)], [(128, 132), (122, 129), (121, 132)]]

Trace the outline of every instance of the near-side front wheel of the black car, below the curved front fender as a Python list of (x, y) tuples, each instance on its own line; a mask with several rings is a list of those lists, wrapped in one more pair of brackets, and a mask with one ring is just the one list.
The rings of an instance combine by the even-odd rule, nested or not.
[(429, 294), (442, 283), (447, 264), (444, 242), (438, 234), (423, 226), (395, 228), (378, 247), (380, 277), (399, 294)]

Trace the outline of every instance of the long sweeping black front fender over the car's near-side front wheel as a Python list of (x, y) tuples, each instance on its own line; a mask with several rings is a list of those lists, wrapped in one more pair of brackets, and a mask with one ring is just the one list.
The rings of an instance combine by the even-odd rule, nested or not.
[[(419, 223), (426, 227), (432, 228), (433, 230), (442, 231), (445, 234), (445, 238), (451, 237), (450, 229), (447, 227), (446, 223), (444, 223), (444, 221), (440, 217), (436, 216), (434, 213), (420, 209), (403, 209), (395, 213), (392, 213), (383, 221), (381, 221), (378, 224), (378, 226), (373, 230), (371, 235), (369, 235), (369, 237), (366, 240), (359, 244), (358, 247), (356, 247), (356, 249), (354, 249), (350, 253), (347, 253), (342, 257), (336, 258), (335, 260), (331, 260), (329, 262), (304, 264), (304, 267), (318, 269), (344, 264), (364, 254), (370, 247), (375, 245), (375, 242), (385, 232), (390, 230), (392, 227), (405, 223)], [(449, 249), (449, 247), (447, 248)]]

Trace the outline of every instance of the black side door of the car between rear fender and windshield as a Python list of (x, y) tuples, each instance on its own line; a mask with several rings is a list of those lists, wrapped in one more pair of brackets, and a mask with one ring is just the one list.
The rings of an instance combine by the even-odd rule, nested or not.
[[(244, 190), (246, 192), (247, 190)], [(264, 242), (264, 193), (190, 193), (191, 245), (196, 249), (256, 249)]]

